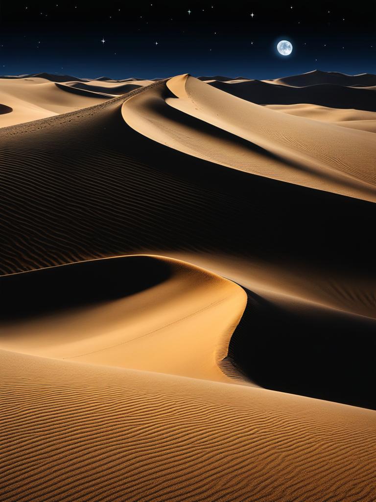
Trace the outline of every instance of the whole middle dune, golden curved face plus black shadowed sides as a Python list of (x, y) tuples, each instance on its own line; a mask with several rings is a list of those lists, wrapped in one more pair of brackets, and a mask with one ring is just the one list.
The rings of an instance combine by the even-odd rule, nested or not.
[[(287, 281), (285, 296), (248, 290), (247, 300), (240, 286), (186, 262), (129, 256), (9, 275), (0, 284), (2, 349), (214, 381), (235, 378), (376, 408), (376, 321), (287, 296)], [(307, 343), (311, 348), (304, 350)]]

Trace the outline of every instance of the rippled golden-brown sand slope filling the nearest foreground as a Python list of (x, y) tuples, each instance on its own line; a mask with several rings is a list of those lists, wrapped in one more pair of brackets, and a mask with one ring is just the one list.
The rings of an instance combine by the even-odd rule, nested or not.
[(374, 498), (373, 411), (4, 350), (0, 360), (0, 500)]

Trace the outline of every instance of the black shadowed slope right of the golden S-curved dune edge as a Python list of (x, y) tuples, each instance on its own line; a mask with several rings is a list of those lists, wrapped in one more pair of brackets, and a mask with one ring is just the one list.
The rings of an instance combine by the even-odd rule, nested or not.
[(375, 383), (376, 320), (265, 296), (247, 290), (222, 365), (229, 361), (243, 379), (263, 388), (376, 409), (369, 386)]

